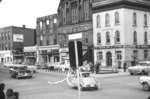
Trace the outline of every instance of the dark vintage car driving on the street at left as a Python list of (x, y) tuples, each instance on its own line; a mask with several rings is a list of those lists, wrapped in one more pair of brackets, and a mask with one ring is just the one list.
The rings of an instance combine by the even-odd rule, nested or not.
[(9, 74), (12, 78), (32, 78), (32, 72), (26, 66), (12, 66), (9, 68)]

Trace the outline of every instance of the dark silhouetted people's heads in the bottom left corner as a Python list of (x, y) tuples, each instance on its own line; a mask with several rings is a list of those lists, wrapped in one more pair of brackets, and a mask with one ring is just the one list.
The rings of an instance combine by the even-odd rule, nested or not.
[(5, 84), (0, 83), (0, 99), (19, 99), (19, 93), (15, 92), (13, 89), (7, 89), (6, 93), (4, 92)]

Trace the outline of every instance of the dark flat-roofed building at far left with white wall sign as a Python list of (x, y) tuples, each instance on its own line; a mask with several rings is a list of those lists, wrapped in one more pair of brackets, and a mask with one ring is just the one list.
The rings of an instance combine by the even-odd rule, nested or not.
[(0, 28), (0, 63), (23, 62), (23, 47), (35, 45), (35, 33), (25, 25)]

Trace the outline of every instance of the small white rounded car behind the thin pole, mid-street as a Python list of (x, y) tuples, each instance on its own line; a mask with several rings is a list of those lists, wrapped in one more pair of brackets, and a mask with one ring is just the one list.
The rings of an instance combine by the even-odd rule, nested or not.
[[(79, 84), (80, 90), (83, 89), (98, 89), (98, 81), (95, 77), (91, 76), (90, 72), (80, 72), (79, 73)], [(68, 73), (67, 83), (72, 88), (78, 88), (78, 78), (77, 73)]]

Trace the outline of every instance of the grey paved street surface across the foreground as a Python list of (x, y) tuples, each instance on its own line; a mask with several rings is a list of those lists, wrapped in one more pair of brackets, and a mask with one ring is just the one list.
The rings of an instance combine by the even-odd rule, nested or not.
[[(99, 74), (109, 75), (109, 74)], [(150, 92), (142, 90), (139, 84), (140, 76), (99, 76), (99, 90), (81, 92), (81, 99), (147, 99)], [(66, 81), (48, 84), (65, 78), (63, 73), (36, 73), (32, 79), (10, 78), (8, 70), (0, 69), (0, 82), (6, 84), (6, 89), (12, 88), (19, 92), (20, 99), (78, 99), (78, 90), (70, 88)]]

